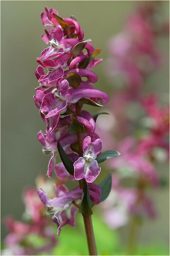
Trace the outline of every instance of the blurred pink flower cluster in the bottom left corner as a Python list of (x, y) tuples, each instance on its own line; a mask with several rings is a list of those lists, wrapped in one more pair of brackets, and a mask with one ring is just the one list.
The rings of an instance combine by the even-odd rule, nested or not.
[[(41, 186), (49, 188), (48, 182), (41, 177), (37, 181)], [(53, 196), (53, 191), (49, 190), (49, 193)], [(23, 221), (16, 221), (12, 217), (4, 220), (8, 234), (4, 240), (5, 249), (2, 250), (2, 255), (36, 255), (51, 251), (57, 244), (54, 229), (51, 221), (46, 218), (45, 206), (39, 200), (37, 190), (27, 188), (23, 193), (23, 202)], [(38, 238), (43, 240), (39, 247), (33, 242), (33, 239)]]

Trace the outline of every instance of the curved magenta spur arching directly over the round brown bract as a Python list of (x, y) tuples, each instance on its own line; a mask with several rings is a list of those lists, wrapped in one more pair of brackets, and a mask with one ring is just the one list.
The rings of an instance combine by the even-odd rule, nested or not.
[(69, 69), (64, 71), (64, 78), (70, 72), (76, 72), (77, 74), (79, 74), (80, 77), (87, 77), (88, 80), (92, 83), (97, 82), (97, 75), (91, 70), (82, 68)]

